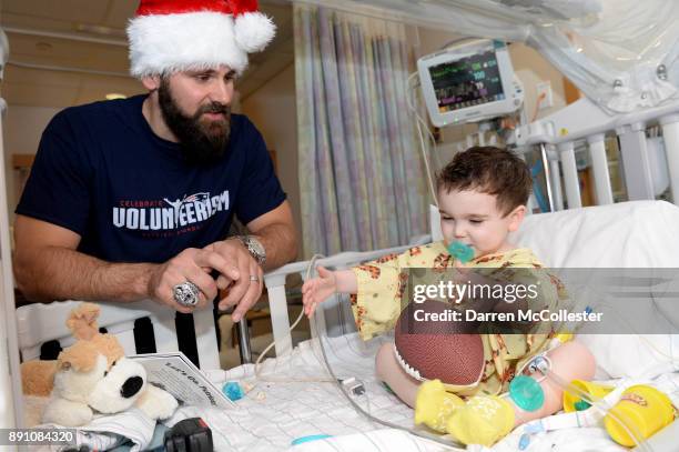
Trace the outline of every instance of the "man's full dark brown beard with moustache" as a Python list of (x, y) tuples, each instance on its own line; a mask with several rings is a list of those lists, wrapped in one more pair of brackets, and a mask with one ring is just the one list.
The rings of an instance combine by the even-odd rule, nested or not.
[[(161, 80), (158, 89), (163, 119), (168, 128), (179, 140), (184, 159), (190, 164), (203, 165), (219, 161), (226, 151), (231, 133), (231, 108), (219, 102), (201, 106), (195, 114), (184, 114), (176, 104), (170, 83)], [(203, 120), (203, 113), (222, 113), (224, 118), (217, 121)]]

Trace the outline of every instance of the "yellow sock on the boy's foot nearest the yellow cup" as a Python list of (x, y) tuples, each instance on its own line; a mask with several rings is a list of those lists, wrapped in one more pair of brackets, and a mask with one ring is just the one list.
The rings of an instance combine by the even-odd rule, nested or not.
[(464, 444), (490, 446), (514, 429), (514, 409), (495, 395), (476, 395), (448, 418), (447, 431)]

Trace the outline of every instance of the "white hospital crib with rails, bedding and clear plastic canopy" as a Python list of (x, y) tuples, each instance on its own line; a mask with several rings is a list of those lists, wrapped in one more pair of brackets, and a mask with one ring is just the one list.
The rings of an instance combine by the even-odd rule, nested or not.
[[(550, 182), (554, 191), (555, 213), (531, 215), (526, 219), (525, 225), (514, 239), (518, 244), (534, 249), (548, 265), (554, 268), (677, 268), (679, 267), (679, 240), (676, 239), (676, 225), (679, 224), (679, 208), (665, 202), (636, 201), (629, 203), (612, 204), (612, 193), (607, 170), (604, 139), (606, 134), (617, 134), (622, 148), (622, 158), (626, 171), (628, 193), (632, 200), (652, 199), (652, 174), (649, 168), (648, 141), (646, 140), (646, 128), (658, 124), (666, 138), (667, 160), (671, 179), (671, 190), (675, 202), (679, 198), (679, 161), (677, 161), (676, 147), (679, 143), (679, 104), (670, 93), (665, 93), (662, 99), (646, 96), (646, 92), (637, 92), (635, 89), (622, 90), (628, 98), (639, 94), (635, 102), (628, 103), (630, 110), (616, 110), (616, 93), (621, 90), (618, 86), (617, 74), (611, 76), (605, 64), (595, 61), (582, 60), (580, 52), (571, 52), (566, 41), (559, 41), (558, 36), (550, 34), (554, 30), (547, 26), (553, 19), (559, 20), (564, 16), (564, 7), (571, 4), (572, 18), (584, 13), (597, 11), (601, 2), (591, 1), (544, 1), (545, 6), (560, 4), (557, 13), (548, 7), (546, 20), (539, 22), (539, 18), (533, 17), (533, 10), (528, 12), (507, 10), (497, 13), (496, 8), (505, 8), (509, 2), (469, 2), (436, 0), (428, 3), (428, 8), (422, 8), (416, 2), (406, 0), (372, 0), (366, 3), (385, 4), (389, 8), (401, 8), (405, 14), (417, 18), (423, 23), (437, 23), (439, 27), (454, 27), (458, 32), (469, 36), (489, 36), (490, 38), (505, 39), (507, 41), (526, 41), (538, 48), (565, 76), (569, 77), (590, 99), (602, 93), (598, 103), (584, 99), (576, 102), (569, 109), (544, 118), (530, 124), (524, 124), (517, 129), (516, 144), (518, 147), (537, 145), (541, 148), (545, 159), (549, 163), (545, 167), (551, 169)], [(457, 9), (448, 7), (458, 3)], [(459, 4), (467, 3), (467, 8)], [(477, 16), (479, 4), (493, 6), (491, 14), (479, 20)], [(496, 4), (497, 3), (497, 4)], [(521, 2), (515, 2), (517, 8)], [(607, 2), (602, 2), (607, 3)], [(651, 6), (661, 8), (661, 1), (636, 2), (625, 0), (618, 2), (620, 11), (630, 11), (634, 8), (650, 9)], [(638, 3), (635, 6), (634, 3)], [(660, 4), (660, 7), (658, 7)], [(582, 8), (579, 8), (579, 7)], [(634, 7), (634, 8), (630, 8)], [(460, 9), (462, 8), (462, 9)], [(509, 7), (507, 7), (509, 8)], [(605, 9), (608, 14), (610, 9)], [(632, 11), (634, 12), (634, 11)], [(561, 16), (559, 16), (561, 14)], [(630, 13), (631, 14), (631, 13)], [(641, 14), (638, 14), (641, 16)], [(568, 14), (565, 16), (569, 17)], [(474, 19), (474, 20), (470, 20)], [(534, 20), (535, 19), (535, 20)], [(661, 17), (656, 16), (653, 21)], [(665, 18), (667, 19), (667, 18)], [(534, 27), (543, 23), (545, 27)], [(615, 22), (614, 22), (615, 23)], [(472, 28), (473, 24), (482, 27), (483, 30)], [(555, 28), (556, 29), (556, 28)], [(578, 29), (576, 29), (578, 31)], [(582, 31), (588, 31), (587, 28)], [(530, 34), (534, 33), (534, 34)], [(671, 42), (663, 42), (665, 44)], [(649, 46), (648, 48), (656, 48)], [(671, 48), (671, 46), (670, 46)], [(662, 50), (662, 49), (661, 49)], [(568, 58), (559, 59), (570, 52), (575, 61)], [(667, 57), (667, 67), (658, 66), (657, 77), (651, 77), (652, 83), (660, 88), (669, 80), (676, 82), (678, 78), (673, 64), (673, 53)], [(632, 61), (631, 59), (630, 61)], [(663, 60), (665, 61), (665, 60)], [(597, 66), (598, 64), (598, 66)], [(660, 71), (660, 68), (665, 68)], [(628, 69), (628, 68), (625, 68)], [(619, 71), (631, 81), (641, 80), (636, 78), (634, 68)], [(652, 72), (652, 71), (651, 71)], [(653, 72), (655, 73), (655, 72)], [(652, 76), (652, 73), (651, 73)], [(590, 78), (591, 80), (587, 80)], [(657, 80), (656, 80), (657, 79)], [(627, 80), (627, 79), (625, 79)], [(676, 83), (675, 83), (676, 84)], [(634, 87), (632, 87), (634, 88)], [(616, 91), (617, 90), (617, 91)], [(652, 92), (651, 92), (652, 94)], [(626, 94), (627, 96), (627, 94)], [(629, 100), (628, 99), (628, 100)], [(653, 102), (650, 102), (653, 100)], [(619, 107), (619, 104), (618, 104)], [(564, 133), (566, 131), (566, 133)], [(577, 168), (575, 162), (575, 149), (586, 142), (592, 160), (596, 180), (597, 203), (600, 207), (577, 209), (580, 205), (580, 193), (577, 181)], [(564, 173), (565, 198), (561, 194), (559, 167)], [(0, 171), (0, 204), (7, 205), (4, 172)], [(570, 210), (560, 211), (567, 201)], [(574, 209), (576, 208), (576, 209)], [(7, 210), (0, 209), (0, 224), (8, 224)], [(432, 224), (437, 224), (435, 220)], [(12, 300), (12, 281), (9, 253), (9, 233), (7, 228), (0, 228), (0, 242), (2, 243), (2, 291), (6, 319), (14, 319)], [(432, 239), (436, 239), (439, 231), (433, 231)], [(347, 268), (358, 262), (374, 259), (392, 251), (401, 251), (404, 248), (391, 250), (375, 250), (367, 253), (343, 253), (328, 257), (317, 261), (331, 268)], [(325, 433), (333, 438), (318, 440), (295, 446), (296, 450), (443, 450), (438, 443), (423, 440), (404, 430), (394, 429), (402, 426), (413, 428), (412, 411), (401, 403), (394, 395), (389, 394), (375, 380), (373, 372), (373, 356), (376, 348), (388, 337), (378, 338), (371, 342), (362, 342), (355, 334), (352, 314), (347, 303), (340, 300), (331, 300), (317, 310), (314, 321), (314, 338), (292, 346), (290, 334), (291, 319), (287, 314), (286, 278), (293, 273), (305, 274), (310, 262), (297, 262), (285, 265), (265, 275), (265, 284), (270, 294), (270, 308), (273, 324), (273, 338), (276, 358), (263, 363), (260, 378), (255, 375), (255, 366), (245, 364), (229, 371), (219, 371), (216, 340), (214, 338), (214, 322), (212, 313), (207, 311), (195, 315), (197, 350), (200, 352), (201, 368), (210, 372), (215, 381), (243, 380), (254, 384), (254, 389), (247, 398), (240, 401), (237, 409), (224, 412), (194, 412), (206, 416), (214, 426), (216, 444), (221, 449), (271, 451), (285, 449), (295, 438)], [(53, 319), (64, 318), (65, 312), (72, 303), (53, 303), (48, 307), (27, 307), (18, 312), (18, 322), (0, 322), (0, 335), (8, 338), (8, 345), (0, 346), (0, 361), (9, 360), (11, 369), (18, 369), (19, 356), (16, 350), (21, 349), (24, 358), (38, 355), (42, 342), (52, 339), (62, 339), (63, 345), (69, 344), (68, 331), (62, 322)], [(150, 318), (154, 324), (155, 342), (159, 351), (176, 350), (178, 343), (174, 333), (174, 323), (171, 313), (168, 313), (151, 302), (129, 304), (125, 307), (103, 304), (101, 324), (116, 334), (123, 343), (128, 353), (133, 353), (134, 321), (140, 318)], [(667, 320), (667, 319), (663, 319)], [(679, 324), (678, 319), (671, 319)], [(676, 337), (675, 337), (676, 338)], [(656, 341), (656, 348), (670, 346), (676, 339), (667, 334), (647, 338)], [(620, 338), (618, 338), (620, 339)], [(612, 378), (620, 382), (627, 379), (649, 378), (652, 370), (653, 379), (670, 394), (675, 405), (679, 404), (679, 365), (676, 361), (667, 360), (656, 354), (652, 350), (645, 350), (639, 345), (636, 335), (629, 334), (621, 340), (628, 343), (620, 350), (625, 355), (611, 353), (611, 342), (606, 342), (605, 337), (582, 338), (588, 342), (597, 356), (600, 366), (599, 376)], [(661, 341), (669, 341), (662, 343)], [(620, 343), (617, 343), (620, 346)], [(679, 348), (679, 344), (675, 344)], [(634, 351), (638, 353), (638, 360), (630, 356)], [(669, 351), (668, 351), (669, 350)], [(671, 348), (666, 349), (671, 355)], [(667, 353), (666, 353), (667, 354)], [(645, 358), (647, 360), (645, 361)], [(327, 363), (334, 374), (328, 378)], [(343, 380), (355, 379), (366, 389), (361, 396), (348, 396), (337, 385), (335, 378)], [(0, 418), (2, 426), (21, 424), (21, 403), (18, 399), (20, 383), (16, 373), (0, 373)], [(346, 389), (346, 388), (344, 388)], [(357, 408), (359, 410), (357, 410)], [(372, 418), (366, 416), (368, 413)], [(184, 415), (190, 415), (191, 409), (183, 410)], [(17, 418), (17, 419), (14, 419)], [(381, 422), (376, 422), (378, 419)], [(392, 428), (386, 428), (388, 423)], [(670, 440), (653, 445), (653, 450), (672, 450), (679, 438), (679, 423), (675, 422), (667, 432), (655, 436), (661, 441), (662, 435)], [(673, 442), (672, 442), (673, 440)], [(518, 433), (511, 433), (501, 441), (495, 450), (516, 450)], [(547, 433), (535, 439), (528, 446), (528, 451), (535, 450), (582, 450), (597, 451), (620, 450), (612, 443), (600, 428), (579, 429), (577, 431), (565, 430)]]

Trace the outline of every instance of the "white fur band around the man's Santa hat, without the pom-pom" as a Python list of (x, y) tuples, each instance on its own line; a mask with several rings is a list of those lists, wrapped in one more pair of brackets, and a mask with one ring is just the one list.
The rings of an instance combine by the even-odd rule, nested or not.
[(143, 78), (225, 64), (237, 73), (247, 52), (234, 37), (233, 18), (214, 12), (139, 16), (128, 26), (130, 72)]

